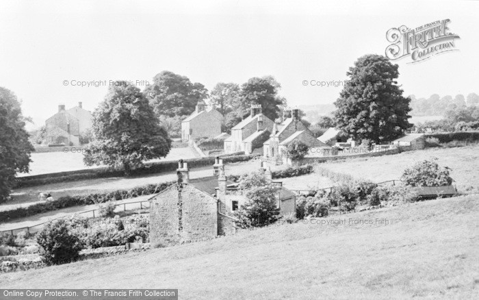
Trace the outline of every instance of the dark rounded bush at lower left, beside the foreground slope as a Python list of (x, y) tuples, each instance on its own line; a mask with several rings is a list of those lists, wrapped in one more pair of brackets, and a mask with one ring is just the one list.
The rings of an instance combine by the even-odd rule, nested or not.
[(44, 250), (44, 258), (51, 264), (72, 262), (78, 258), (81, 242), (70, 231), (68, 222), (62, 218), (47, 223), (37, 235), (37, 242)]

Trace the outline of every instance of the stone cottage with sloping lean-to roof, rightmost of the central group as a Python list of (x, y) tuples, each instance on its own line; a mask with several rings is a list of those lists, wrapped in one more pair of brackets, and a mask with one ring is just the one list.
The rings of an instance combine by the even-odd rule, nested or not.
[(300, 110), (290, 110), (289, 118), (281, 124), (274, 124), (270, 139), (263, 144), (263, 156), (270, 161), (282, 163), (287, 160), (287, 146), (294, 140), (305, 143), (309, 148), (331, 148), (314, 137), (301, 122)]

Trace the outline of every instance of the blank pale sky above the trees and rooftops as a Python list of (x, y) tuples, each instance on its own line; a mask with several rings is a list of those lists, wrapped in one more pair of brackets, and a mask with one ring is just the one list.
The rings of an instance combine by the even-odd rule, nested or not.
[(341, 84), (311, 80), (344, 81), (357, 58), (384, 55), (393, 27), (449, 18), (458, 51), (394, 61), (398, 83), (417, 97), (479, 94), (478, 13), (479, 1), (1, 1), (0, 86), (30, 129), (59, 104), (94, 110), (110, 81), (143, 89), (165, 70), (208, 90), (272, 75), (289, 105), (327, 104)]

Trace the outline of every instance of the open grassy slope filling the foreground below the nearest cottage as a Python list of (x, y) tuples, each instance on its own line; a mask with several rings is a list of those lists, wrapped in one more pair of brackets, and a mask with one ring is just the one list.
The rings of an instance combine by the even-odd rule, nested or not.
[(181, 299), (479, 297), (478, 196), (0, 275), (3, 288), (179, 288)]

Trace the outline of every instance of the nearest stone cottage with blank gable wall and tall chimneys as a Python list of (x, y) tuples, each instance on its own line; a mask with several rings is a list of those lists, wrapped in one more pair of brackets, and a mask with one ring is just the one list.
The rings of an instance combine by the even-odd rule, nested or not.
[[(269, 168), (262, 170), (271, 178)], [(272, 184), (277, 187), (281, 214), (296, 214), (296, 194), (281, 182)], [(150, 241), (166, 246), (234, 234), (233, 212), (246, 200), (238, 184), (226, 179), (219, 158), (213, 176), (197, 179), (190, 179), (187, 163), (180, 160), (177, 182), (150, 200)]]

